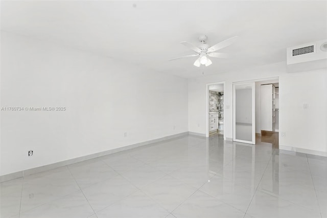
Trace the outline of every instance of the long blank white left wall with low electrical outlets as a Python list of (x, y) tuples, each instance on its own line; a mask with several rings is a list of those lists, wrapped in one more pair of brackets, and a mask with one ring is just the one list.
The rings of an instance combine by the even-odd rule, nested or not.
[(66, 107), (1, 112), (1, 175), (188, 131), (186, 79), (6, 32), (1, 106)]

